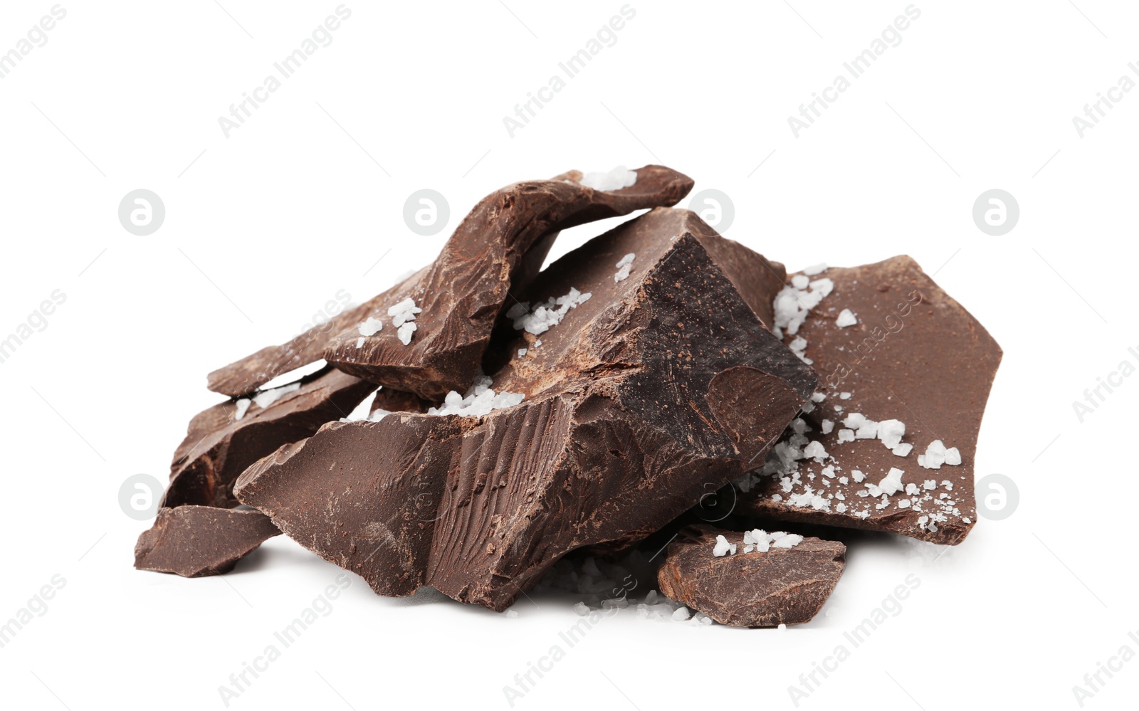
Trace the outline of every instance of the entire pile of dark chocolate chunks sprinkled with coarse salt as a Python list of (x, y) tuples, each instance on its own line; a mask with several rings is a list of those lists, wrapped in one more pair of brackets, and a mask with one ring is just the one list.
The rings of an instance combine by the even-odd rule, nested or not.
[[(211, 373), (229, 400), (190, 422), (136, 566), (224, 573), (284, 532), (379, 595), (503, 611), (672, 526), (661, 590), (770, 627), (818, 612), (846, 549), (753, 521), (964, 540), (1001, 350), (960, 304), (907, 256), (787, 275), (674, 209), (693, 181), (664, 166), (589, 182), (497, 190), (434, 263)], [(541, 269), (559, 230), (642, 210)], [(691, 516), (724, 491), (739, 531)]]

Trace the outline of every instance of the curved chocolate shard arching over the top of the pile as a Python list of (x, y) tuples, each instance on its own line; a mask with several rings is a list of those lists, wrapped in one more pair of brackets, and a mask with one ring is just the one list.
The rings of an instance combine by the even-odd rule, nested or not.
[(377, 318), (409, 299), (420, 310), (410, 341), (394, 327), (396, 317), (392, 328), (362, 344), (350, 328), (325, 358), (345, 373), (424, 398), (462, 390), (478, 371), (494, 321), (511, 285), (517, 287), (518, 265), (535, 240), (593, 220), (675, 204), (691, 185), (673, 170), (650, 165), (637, 171), (634, 185), (614, 191), (566, 180), (503, 188), (464, 219), (421, 280), (382, 300)]

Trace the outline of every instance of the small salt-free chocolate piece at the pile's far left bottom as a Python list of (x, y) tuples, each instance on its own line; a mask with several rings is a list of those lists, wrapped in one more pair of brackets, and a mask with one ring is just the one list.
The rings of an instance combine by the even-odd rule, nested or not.
[(134, 567), (183, 578), (220, 575), (280, 531), (255, 510), (177, 506), (159, 508), (139, 536)]

